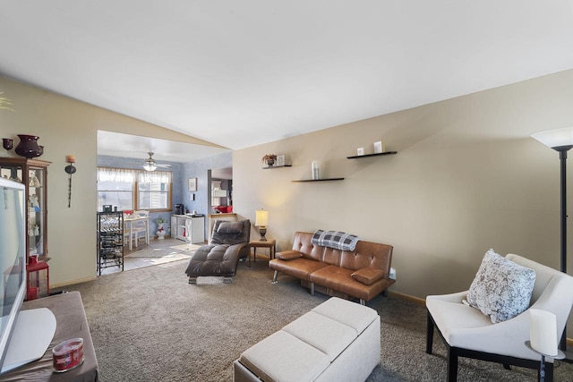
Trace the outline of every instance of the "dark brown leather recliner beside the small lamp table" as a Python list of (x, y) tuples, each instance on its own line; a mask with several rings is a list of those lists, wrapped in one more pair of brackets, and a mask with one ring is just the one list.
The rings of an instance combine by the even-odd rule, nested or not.
[(210, 243), (195, 250), (189, 260), (185, 270), (189, 284), (196, 284), (199, 276), (223, 276), (224, 283), (232, 283), (239, 260), (249, 256), (250, 238), (250, 220), (217, 220)]

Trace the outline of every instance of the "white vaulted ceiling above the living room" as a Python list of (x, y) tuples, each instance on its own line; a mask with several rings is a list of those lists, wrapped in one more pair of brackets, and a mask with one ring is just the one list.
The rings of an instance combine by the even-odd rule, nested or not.
[(242, 149), (573, 68), (572, 6), (2, 0), (0, 74)]

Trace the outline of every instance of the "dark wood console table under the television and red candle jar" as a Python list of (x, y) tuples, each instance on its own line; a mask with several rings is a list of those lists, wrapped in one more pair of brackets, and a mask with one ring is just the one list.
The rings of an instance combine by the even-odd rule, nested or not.
[[(56, 334), (42, 358), (0, 375), (0, 381), (98, 381), (98, 360), (91, 342), (90, 327), (81, 295), (70, 292), (25, 301), (22, 310), (47, 308), (56, 316)], [(85, 361), (76, 369), (64, 373), (53, 372), (52, 348), (65, 340), (83, 338)]]

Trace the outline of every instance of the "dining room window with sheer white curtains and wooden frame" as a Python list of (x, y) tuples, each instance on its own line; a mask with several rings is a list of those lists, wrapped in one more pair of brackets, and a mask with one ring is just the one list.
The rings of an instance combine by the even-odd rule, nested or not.
[(98, 211), (104, 204), (118, 210), (170, 210), (172, 174), (98, 167)]

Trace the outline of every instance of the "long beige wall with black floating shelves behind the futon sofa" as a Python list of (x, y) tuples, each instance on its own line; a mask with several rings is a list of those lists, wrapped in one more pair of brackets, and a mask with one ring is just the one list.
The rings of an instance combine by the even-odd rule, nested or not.
[[(530, 134), (573, 124), (571, 105), (573, 71), (238, 150), (235, 210), (269, 209), (279, 250), (296, 230), (389, 243), (391, 290), (420, 298), (467, 288), (490, 248), (559, 268), (559, 155)], [(398, 154), (346, 159), (381, 139)], [(265, 153), (293, 166), (262, 170)], [(292, 183), (311, 178), (312, 160), (346, 179)]]

